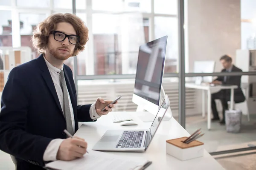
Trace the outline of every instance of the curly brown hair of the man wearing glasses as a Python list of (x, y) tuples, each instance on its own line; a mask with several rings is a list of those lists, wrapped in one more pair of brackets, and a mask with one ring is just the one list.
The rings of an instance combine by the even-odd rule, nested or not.
[(84, 50), (84, 45), (88, 41), (88, 28), (84, 22), (74, 14), (52, 14), (47, 17), (43, 22), (37, 25), (33, 32), (32, 42), (38, 53), (45, 53), (48, 37), (50, 31), (54, 31), (58, 23), (70, 23), (76, 30), (76, 34), (80, 37), (79, 42), (76, 44), (72, 56), (76, 56), (80, 51)]

